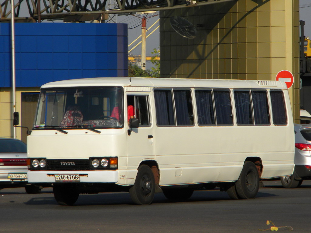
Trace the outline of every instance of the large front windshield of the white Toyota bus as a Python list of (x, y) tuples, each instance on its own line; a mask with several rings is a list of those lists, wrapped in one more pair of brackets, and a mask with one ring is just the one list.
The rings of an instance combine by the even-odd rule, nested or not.
[(123, 127), (122, 88), (42, 89), (34, 128), (49, 127)]

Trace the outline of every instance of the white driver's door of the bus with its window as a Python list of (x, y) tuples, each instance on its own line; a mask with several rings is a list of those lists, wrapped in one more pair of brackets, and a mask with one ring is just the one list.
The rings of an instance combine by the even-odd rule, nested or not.
[[(148, 94), (127, 95), (128, 121), (139, 120), (139, 127), (127, 135), (128, 167), (138, 166), (142, 160), (155, 158), (153, 126)], [(127, 124), (129, 129), (129, 125)]]

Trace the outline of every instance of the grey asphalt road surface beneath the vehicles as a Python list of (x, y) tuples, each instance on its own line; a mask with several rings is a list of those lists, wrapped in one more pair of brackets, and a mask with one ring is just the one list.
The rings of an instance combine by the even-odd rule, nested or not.
[(284, 189), (280, 181), (264, 185), (255, 199), (231, 200), (225, 192), (211, 190), (196, 191), (185, 202), (170, 202), (158, 193), (144, 206), (132, 204), (128, 193), (80, 195), (75, 206), (60, 206), (50, 188), (41, 194), (3, 189), (0, 232), (260, 233), (271, 227), (266, 225), (270, 220), (277, 227), (291, 226), (291, 232), (310, 233), (311, 181), (296, 189)]

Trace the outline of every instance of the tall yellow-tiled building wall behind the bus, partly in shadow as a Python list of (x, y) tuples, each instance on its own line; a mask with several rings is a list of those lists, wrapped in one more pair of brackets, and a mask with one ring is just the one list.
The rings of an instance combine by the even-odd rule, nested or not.
[[(177, 34), (171, 16), (197, 29)], [(275, 80), (288, 70), (294, 120), (299, 122), (299, 1), (239, 0), (160, 12), (162, 77)]]

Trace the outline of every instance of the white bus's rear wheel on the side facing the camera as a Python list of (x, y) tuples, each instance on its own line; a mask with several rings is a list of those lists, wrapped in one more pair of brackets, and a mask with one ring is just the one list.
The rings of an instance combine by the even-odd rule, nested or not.
[(255, 198), (259, 190), (259, 175), (253, 162), (244, 162), (239, 179), (235, 182), (239, 199)]

